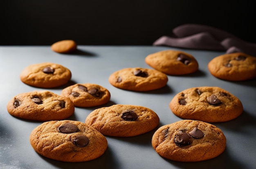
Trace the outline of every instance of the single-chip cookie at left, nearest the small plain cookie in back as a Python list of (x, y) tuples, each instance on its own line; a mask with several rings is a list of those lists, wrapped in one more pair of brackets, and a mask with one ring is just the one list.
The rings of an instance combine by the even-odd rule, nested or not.
[(33, 87), (53, 88), (65, 85), (71, 76), (71, 71), (61, 64), (44, 62), (26, 67), (20, 73), (20, 80)]

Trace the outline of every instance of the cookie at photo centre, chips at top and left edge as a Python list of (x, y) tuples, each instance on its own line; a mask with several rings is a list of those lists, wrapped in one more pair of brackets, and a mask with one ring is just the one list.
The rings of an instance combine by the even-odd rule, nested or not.
[(154, 69), (136, 67), (118, 70), (110, 75), (108, 81), (119, 89), (151, 91), (164, 87), (168, 77)]

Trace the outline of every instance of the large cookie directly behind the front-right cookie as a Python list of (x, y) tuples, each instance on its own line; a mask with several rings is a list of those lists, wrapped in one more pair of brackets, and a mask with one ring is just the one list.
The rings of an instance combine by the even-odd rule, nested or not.
[(180, 118), (204, 122), (225, 122), (243, 113), (240, 100), (220, 87), (185, 89), (174, 96), (169, 106)]

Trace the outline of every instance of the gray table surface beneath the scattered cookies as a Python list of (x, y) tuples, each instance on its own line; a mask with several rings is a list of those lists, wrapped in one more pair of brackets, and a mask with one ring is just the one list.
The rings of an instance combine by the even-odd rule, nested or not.
[[(73, 54), (55, 53), (50, 46), (1, 46), (0, 47), (0, 168), (45, 169), (45, 168), (106, 168), (106, 169), (255, 169), (256, 168), (256, 79), (229, 82), (217, 79), (208, 71), (208, 62), (224, 52), (175, 49), (152, 46), (78, 46)], [(181, 50), (192, 54), (199, 63), (196, 73), (186, 76), (168, 76), (166, 87), (155, 91), (134, 92), (113, 87), (108, 77), (114, 71), (127, 67), (150, 68), (145, 57), (166, 49)], [(42, 122), (22, 120), (11, 116), (6, 109), (11, 98), (19, 93), (45, 90), (25, 85), (20, 81), (20, 72), (30, 64), (54, 62), (72, 72), (71, 82), (95, 83), (107, 88), (113, 104), (140, 105), (155, 111), (160, 124), (167, 125), (178, 120), (169, 109), (169, 102), (180, 91), (199, 86), (218, 86), (236, 97), (244, 106), (241, 116), (229, 122), (213, 123), (224, 132), (227, 147), (220, 156), (202, 162), (175, 162), (159, 156), (151, 146), (156, 131), (130, 138), (108, 137), (108, 149), (99, 158), (89, 162), (68, 163), (40, 156), (29, 143), (31, 131)], [(47, 89), (60, 94), (64, 87)], [(70, 120), (85, 121), (86, 116), (99, 107), (75, 108)]]

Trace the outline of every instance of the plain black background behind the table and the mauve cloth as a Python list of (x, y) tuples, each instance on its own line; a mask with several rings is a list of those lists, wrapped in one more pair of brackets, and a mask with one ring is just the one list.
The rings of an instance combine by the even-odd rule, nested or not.
[(254, 0), (8, 0), (0, 16), (0, 45), (152, 45), (186, 23), (256, 43)]

